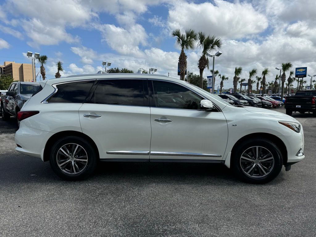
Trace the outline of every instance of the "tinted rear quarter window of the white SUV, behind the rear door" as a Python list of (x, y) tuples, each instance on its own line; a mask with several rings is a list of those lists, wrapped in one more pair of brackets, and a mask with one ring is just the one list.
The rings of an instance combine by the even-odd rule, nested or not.
[(49, 103), (83, 103), (86, 99), (94, 80), (84, 82), (69, 82), (57, 85), (57, 92)]

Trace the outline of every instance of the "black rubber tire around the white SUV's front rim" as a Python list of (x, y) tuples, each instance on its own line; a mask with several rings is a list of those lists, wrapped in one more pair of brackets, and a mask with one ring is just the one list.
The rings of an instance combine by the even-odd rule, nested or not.
[[(241, 155), (243, 155), (247, 149), (254, 146), (263, 147), (264, 149), (267, 149), (268, 151), (270, 151), (270, 153), (273, 155), (272, 159), (274, 163), (273, 165), (271, 165), (270, 172), (267, 173), (263, 177), (255, 177), (255, 176), (246, 174), (241, 165), (241, 161), (240, 161)], [(256, 163), (254, 162), (252, 163), (255, 166), (253, 170), (256, 170), (256, 169), (259, 170), (258, 165), (256, 165)], [(250, 162), (249, 164), (252, 166)], [(241, 181), (246, 182), (246, 183), (252, 183), (252, 184), (265, 184), (267, 182), (270, 182), (280, 173), (282, 169), (282, 164), (283, 164), (283, 157), (282, 157), (280, 149), (276, 146), (275, 143), (264, 138), (255, 138), (251, 140), (250, 139), (246, 140), (237, 149), (234, 150), (232, 154), (232, 160), (231, 160), (231, 167), (235, 175)]]

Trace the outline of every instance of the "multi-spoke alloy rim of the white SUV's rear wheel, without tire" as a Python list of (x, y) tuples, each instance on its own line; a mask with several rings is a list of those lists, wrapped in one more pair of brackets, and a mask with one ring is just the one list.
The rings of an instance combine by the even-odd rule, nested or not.
[(82, 146), (76, 143), (68, 143), (58, 150), (56, 160), (58, 167), (64, 173), (77, 174), (87, 166), (88, 155)]

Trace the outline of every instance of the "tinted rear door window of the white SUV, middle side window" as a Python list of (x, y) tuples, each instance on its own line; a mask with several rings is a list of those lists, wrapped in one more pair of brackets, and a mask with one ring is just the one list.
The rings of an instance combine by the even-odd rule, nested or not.
[(145, 106), (143, 80), (100, 80), (90, 103)]

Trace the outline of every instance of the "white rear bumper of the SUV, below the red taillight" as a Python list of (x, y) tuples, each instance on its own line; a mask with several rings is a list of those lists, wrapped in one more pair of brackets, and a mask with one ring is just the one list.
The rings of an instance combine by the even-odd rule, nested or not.
[(15, 133), (15, 143), (21, 147), (16, 147), (15, 150), (29, 156), (43, 158), (44, 148), (47, 140), (54, 134), (53, 132), (47, 132), (35, 128), (27, 127), (22, 124)]

